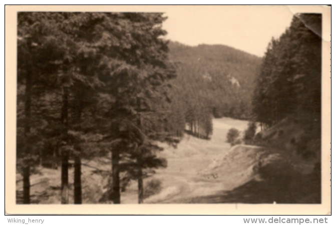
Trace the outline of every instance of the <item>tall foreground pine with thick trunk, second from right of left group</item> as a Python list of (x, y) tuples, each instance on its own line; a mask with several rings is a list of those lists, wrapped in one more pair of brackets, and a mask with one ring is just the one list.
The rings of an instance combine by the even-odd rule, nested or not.
[(166, 89), (166, 80), (174, 77), (166, 62), (167, 43), (159, 38), (165, 34), (160, 27), (164, 18), (160, 13), (86, 15), (99, 18), (99, 24), (92, 27), (99, 35), (93, 35), (90, 44), (96, 47), (95, 55), (100, 55), (96, 58), (96, 71), (104, 86), (99, 92), (106, 96), (101, 102), (104, 110), (99, 114), (106, 121), (101, 131), (110, 130), (109, 134), (104, 133), (105, 140), (111, 142), (112, 152), (110, 197), (114, 203), (120, 203), (120, 160), (135, 144), (140, 145), (131, 135), (134, 130), (141, 130), (139, 115), (144, 110), (152, 112), (146, 99), (165, 95), (162, 90)]

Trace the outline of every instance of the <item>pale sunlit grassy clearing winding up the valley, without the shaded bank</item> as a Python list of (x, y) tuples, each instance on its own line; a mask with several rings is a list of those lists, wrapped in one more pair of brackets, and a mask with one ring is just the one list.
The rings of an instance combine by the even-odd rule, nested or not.
[[(162, 156), (167, 158), (168, 167), (157, 170), (153, 177), (162, 180), (163, 190), (146, 199), (145, 203), (193, 202), (194, 197), (232, 188), (232, 180), (231, 183), (223, 182), (230, 176), (220, 177), (211, 169), (208, 171), (208, 167), (230, 150), (230, 144), (225, 142), (228, 129), (235, 127), (244, 130), (247, 123), (231, 118), (214, 119), (210, 140), (186, 136), (176, 149), (166, 147)], [(239, 182), (237, 180), (237, 185)]]

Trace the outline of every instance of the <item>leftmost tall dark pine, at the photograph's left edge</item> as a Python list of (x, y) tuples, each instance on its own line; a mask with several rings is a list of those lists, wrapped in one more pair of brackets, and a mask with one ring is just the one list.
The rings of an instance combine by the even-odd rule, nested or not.
[[(41, 137), (39, 127), (44, 124), (39, 113), (38, 99), (53, 86), (58, 59), (63, 55), (58, 45), (60, 35), (53, 21), (57, 17), (51, 14), (18, 13), (18, 89), (25, 88), (24, 131), (21, 136), (21, 122), (18, 123), (18, 164), (23, 171), (24, 203), (30, 203), (30, 173), (37, 163), (36, 155), (41, 157)], [(56, 47), (57, 46), (57, 47)], [(21, 102), (18, 91), (18, 103)], [(18, 121), (21, 119), (18, 107)], [(34, 114), (33, 114), (34, 113)], [(38, 144), (39, 143), (39, 144)], [(38, 154), (37, 154), (38, 153)], [(35, 155), (35, 156), (34, 156)]]

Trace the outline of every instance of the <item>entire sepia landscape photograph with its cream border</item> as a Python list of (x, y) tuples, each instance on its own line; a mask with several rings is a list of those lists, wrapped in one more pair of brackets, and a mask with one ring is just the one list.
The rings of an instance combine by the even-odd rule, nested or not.
[(11, 7), (12, 211), (331, 210), (327, 6)]

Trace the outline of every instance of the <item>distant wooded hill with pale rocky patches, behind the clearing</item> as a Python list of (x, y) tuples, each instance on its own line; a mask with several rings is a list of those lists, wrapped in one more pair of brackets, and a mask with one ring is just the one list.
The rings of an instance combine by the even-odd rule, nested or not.
[(189, 133), (209, 138), (213, 117), (250, 117), (260, 58), (225, 45), (170, 42), (169, 48), (178, 74), (174, 93)]

